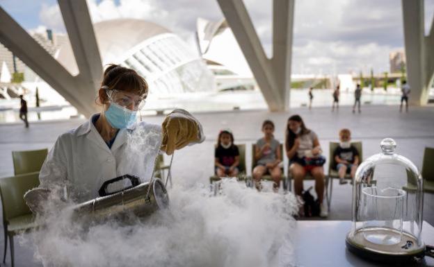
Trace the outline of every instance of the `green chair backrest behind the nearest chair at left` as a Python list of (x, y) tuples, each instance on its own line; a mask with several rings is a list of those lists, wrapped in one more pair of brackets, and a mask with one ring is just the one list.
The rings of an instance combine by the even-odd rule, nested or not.
[(12, 151), (15, 175), (40, 171), (47, 157), (48, 149)]

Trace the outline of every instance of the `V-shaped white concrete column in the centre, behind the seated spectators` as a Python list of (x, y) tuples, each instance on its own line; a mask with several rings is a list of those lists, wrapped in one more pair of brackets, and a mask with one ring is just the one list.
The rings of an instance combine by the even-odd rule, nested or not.
[(271, 111), (287, 110), (294, 0), (273, 1), (273, 58), (268, 59), (242, 0), (218, 0)]

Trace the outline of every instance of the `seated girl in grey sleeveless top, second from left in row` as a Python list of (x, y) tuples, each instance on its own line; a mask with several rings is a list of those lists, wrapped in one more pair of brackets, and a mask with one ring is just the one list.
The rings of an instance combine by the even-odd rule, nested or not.
[(255, 160), (257, 161), (257, 165), (253, 169), (255, 187), (261, 190), (260, 180), (263, 175), (269, 173), (274, 182), (273, 187), (277, 190), (282, 179), (282, 169), (279, 166), (280, 162), (282, 162), (282, 151), (280, 151), (279, 141), (274, 139), (273, 121), (264, 121), (262, 123), (262, 132), (264, 132), (264, 137), (257, 141), (254, 151)]

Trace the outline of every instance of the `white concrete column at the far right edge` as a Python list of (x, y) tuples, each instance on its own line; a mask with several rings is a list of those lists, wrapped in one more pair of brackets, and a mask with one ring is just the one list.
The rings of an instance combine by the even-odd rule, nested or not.
[(424, 0), (402, 0), (402, 9), (410, 103), (426, 105), (434, 74), (433, 26), (425, 36)]

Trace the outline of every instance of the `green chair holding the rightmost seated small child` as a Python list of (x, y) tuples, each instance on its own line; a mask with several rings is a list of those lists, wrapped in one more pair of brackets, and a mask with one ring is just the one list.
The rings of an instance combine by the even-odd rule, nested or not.
[[(335, 157), (333, 157), (333, 153), (335, 153), (335, 149), (339, 146), (338, 142), (330, 142), (330, 149), (329, 149), (329, 155), (328, 155), (328, 176), (325, 178), (325, 190), (326, 190), (326, 196), (327, 196), (327, 203), (328, 207), (330, 209), (330, 203), (332, 202), (332, 193), (333, 193), (333, 178), (339, 179), (339, 173), (336, 171), (336, 162)], [(362, 163), (363, 160), (363, 148), (362, 148), (362, 142), (351, 142), (351, 145), (357, 149), (357, 152), (359, 153), (359, 164)], [(346, 173), (345, 179), (351, 180), (351, 175), (349, 173)], [(330, 184), (330, 189), (328, 189), (328, 185)], [(330, 191), (330, 193), (328, 192)]]

